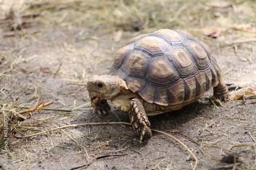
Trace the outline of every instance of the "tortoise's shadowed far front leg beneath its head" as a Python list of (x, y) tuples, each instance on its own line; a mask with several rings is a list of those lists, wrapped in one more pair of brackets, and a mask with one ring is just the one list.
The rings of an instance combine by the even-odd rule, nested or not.
[[(111, 113), (110, 105), (105, 99), (93, 97), (90, 95), (91, 107), (93, 107), (93, 113), (107, 114)], [(90, 107), (90, 108), (91, 108)]]

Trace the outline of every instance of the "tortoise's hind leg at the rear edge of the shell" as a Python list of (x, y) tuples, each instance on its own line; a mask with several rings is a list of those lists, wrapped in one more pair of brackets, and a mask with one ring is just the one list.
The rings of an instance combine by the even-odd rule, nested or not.
[(219, 84), (214, 87), (214, 97), (222, 101), (228, 101), (228, 89), (227, 86), (220, 80)]

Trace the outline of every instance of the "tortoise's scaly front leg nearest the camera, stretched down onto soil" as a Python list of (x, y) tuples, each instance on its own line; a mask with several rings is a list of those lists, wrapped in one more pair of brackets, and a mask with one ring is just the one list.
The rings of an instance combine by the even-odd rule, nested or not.
[(148, 121), (144, 107), (138, 99), (133, 99), (131, 101), (129, 116), (133, 129), (137, 130), (140, 135), (140, 142), (142, 143), (143, 141), (150, 139), (152, 136), (150, 121)]

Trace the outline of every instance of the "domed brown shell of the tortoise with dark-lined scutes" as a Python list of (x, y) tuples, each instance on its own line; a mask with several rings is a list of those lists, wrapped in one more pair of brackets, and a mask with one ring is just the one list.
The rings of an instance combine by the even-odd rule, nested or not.
[(193, 100), (220, 80), (208, 47), (183, 30), (137, 36), (115, 55), (109, 75), (149, 103), (167, 106)]

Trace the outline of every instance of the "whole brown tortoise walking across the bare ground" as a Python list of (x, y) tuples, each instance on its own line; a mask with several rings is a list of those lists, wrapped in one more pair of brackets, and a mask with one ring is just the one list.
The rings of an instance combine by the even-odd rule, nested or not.
[(221, 70), (209, 47), (183, 30), (139, 35), (117, 51), (109, 75), (87, 83), (93, 113), (111, 113), (107, 100), (129, 112), (139, 141), (152, 137), (148, 115), (175, 111), (214, 88), (228, 100)]

